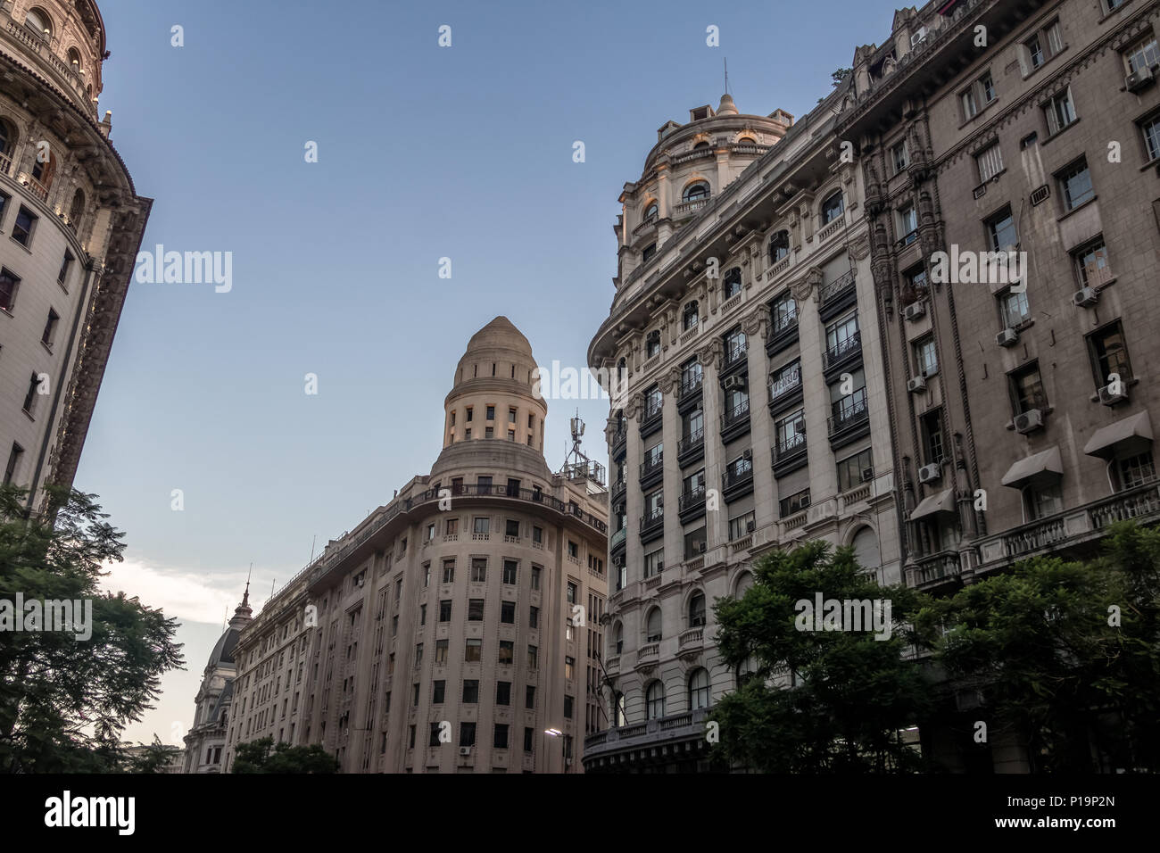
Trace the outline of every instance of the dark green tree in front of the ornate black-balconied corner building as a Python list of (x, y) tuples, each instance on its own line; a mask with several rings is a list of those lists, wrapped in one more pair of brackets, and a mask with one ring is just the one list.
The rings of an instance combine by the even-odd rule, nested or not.
[[(726, 662), (751, 662), (753, 675), (711, 715), (719, 723), (715, 758), (780, 773), (889, 773), (918, 768), (900, 731), (931, 706), (922, 671), (904, 659), (919, 636), (905, 623), (927, 598), (882, 587), (861, 572), (849, 548), (809, 542), (754, 565), (740, 599), (718, 599), (717, 636)], [(890, 602), (890, 638), (873, 631), (804, 629), (799, 602)], [(849, 628), (849, 626), (847, 626)], [(885, 631), (883, 631), (885, 634)]]

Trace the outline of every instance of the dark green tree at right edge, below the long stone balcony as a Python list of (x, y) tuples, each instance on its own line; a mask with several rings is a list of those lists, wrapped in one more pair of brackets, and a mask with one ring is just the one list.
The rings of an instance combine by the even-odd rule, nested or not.
[(993, 738), (1013, 731), (1036, 772), (1160, 771), (1160, 530), (1114, 526), (1087, 562), (1037, 557), (934, 605), (936, 658), (983, 686)]

